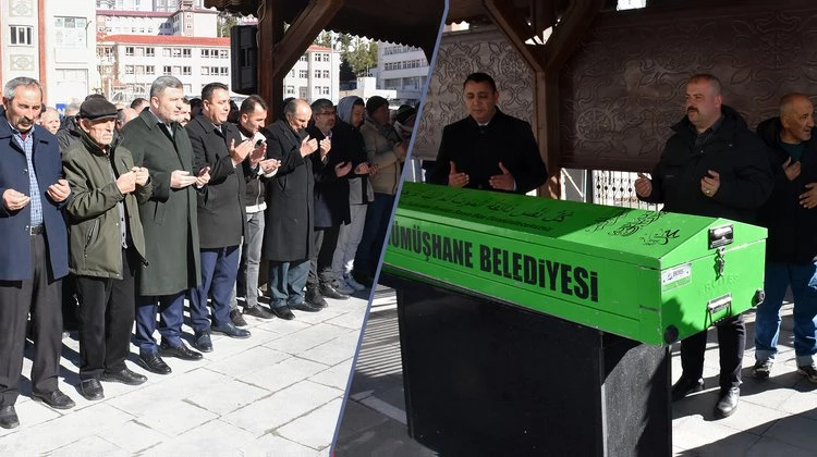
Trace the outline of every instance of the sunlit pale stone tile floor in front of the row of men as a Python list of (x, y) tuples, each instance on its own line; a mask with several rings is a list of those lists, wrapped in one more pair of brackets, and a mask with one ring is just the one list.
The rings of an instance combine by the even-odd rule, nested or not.
[(0, 429), (0, 456), (328, 456), (368, 294), (329, 300), (316, 313), (295, 311), (293, 321), (247, 317), (248, 339), (214, 335), (204, 360), (166, 359), (169, 375), (130, 361), (148, 381), (103, 383), (99, 402), (74, 387), (80, 356), (72, 333), (63, 339), (59, 380), (76, 402), (68, 411), (29, 398), (27, 347), (21, 425)]

